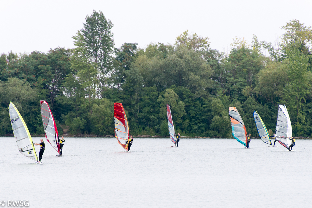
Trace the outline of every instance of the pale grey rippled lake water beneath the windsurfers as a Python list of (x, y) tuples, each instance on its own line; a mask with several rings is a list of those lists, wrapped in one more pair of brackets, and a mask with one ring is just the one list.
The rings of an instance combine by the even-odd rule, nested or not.
[[(33, 137), (34, 143), (40, 142)], [(252, 139), (65, 138), (63, 157), (44, 139), (42, 163), (0, 137), (0, 201), (29, 207), (311, 207), (312, 140), (294, 151)], [(39, 154), (39, 146), (36, 146)], [(7, 207), (7, 205), (3, 206)]]

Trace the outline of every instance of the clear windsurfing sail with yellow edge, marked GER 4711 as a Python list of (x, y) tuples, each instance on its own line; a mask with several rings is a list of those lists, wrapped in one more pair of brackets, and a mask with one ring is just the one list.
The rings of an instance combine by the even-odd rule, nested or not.
[(9, 114), (18, 151), (27, 158), (38, 161), (35, 147), (32, 143), (32, 137), (26, 123), (12, 102), (9, 105)]

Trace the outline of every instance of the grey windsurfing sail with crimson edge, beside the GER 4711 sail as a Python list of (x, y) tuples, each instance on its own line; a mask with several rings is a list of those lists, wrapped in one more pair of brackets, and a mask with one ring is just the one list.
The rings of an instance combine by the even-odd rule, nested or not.
[(60, 142), (51, 109), (45, 100), (41, 100), (40, 105), (41, 105), (42, 123), (44, 133), (46, 135), (46, 140), (51, 144), (51, 146), (56, 150), (56, 152), (60, 154)]

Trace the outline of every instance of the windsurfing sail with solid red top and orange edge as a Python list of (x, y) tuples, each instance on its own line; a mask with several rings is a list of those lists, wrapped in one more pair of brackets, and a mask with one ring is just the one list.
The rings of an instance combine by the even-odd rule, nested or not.
[(128, 150), (129, 126), (124, 107), (120, 102), (114, 104), (115, 137), (118, 143)]

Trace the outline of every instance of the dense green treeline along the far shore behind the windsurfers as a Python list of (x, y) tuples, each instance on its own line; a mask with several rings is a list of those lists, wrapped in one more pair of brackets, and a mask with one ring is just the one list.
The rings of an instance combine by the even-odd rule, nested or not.
[(236, 38), (229, 53), (188, 31), (174, 45), (114, 48), (112, 27), (94, 11), (73, 36), (74, 49), (1, 54), (0, 135), (12, 133), (10, 101), (30, 132), (43, 134), (39, 101), (46, 100), (59, 131), (74, 135), (114, 135), (113, 105), (121, 102), (134, 135), (168, 135), (169, 104), (183, 135), (232, 137), (228, 107), (235, 106), (256, 136), (253, 111), (274, 130), (277, 106), (285, 104), (293, 134), (312, 136), (310, 26), (291, 20), (276, 46), (256, 35), (251, 45)]

